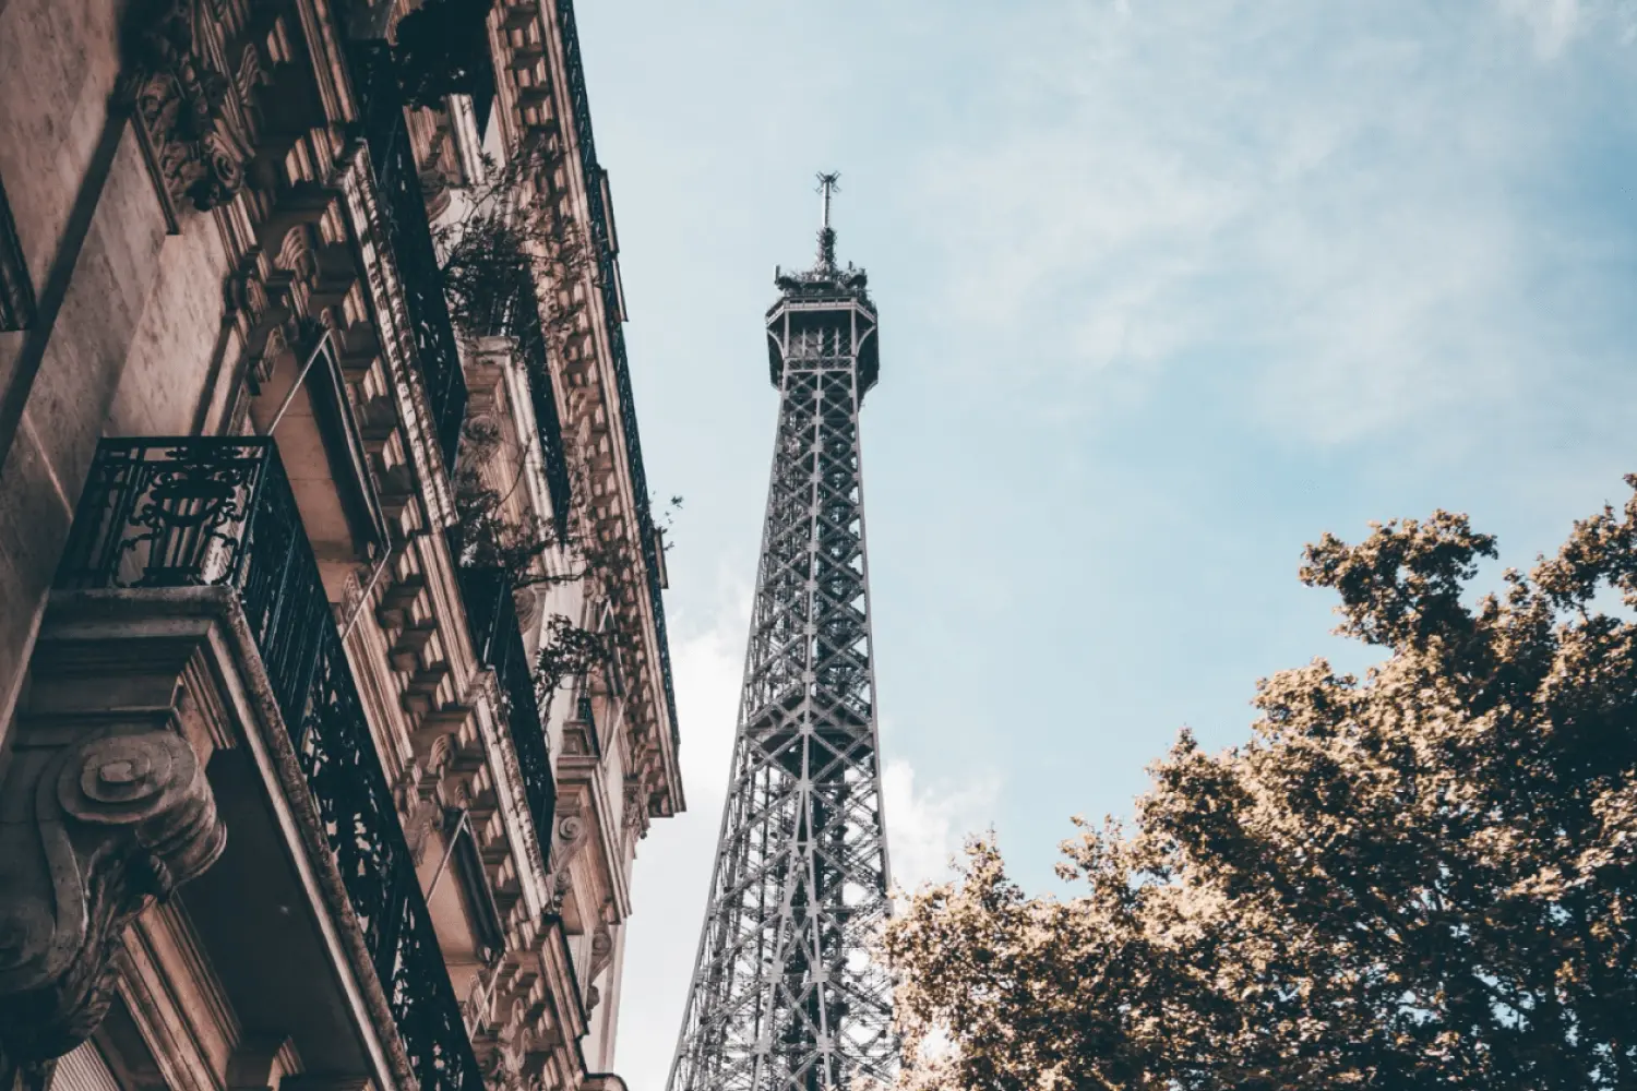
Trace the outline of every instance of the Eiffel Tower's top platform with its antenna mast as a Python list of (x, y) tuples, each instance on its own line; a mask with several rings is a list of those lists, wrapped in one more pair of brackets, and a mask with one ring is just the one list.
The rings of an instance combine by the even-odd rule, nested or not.
[(835, 260), (835, 229), (830, 226), (830, 195), (837, 175), (818, 175), (823, 193), (823, 226), (818, 227), (818, 257), (804, 272), (776, 268), (773, 283), (779, 299), (768, 308), (768, 373), (774, 386), (784, 379), (791, 353), (822, 355), (841, 363), (856, 361), (858, 393), (864, 394), (881, 375), (876, 343), (876, 304), (869, 299), (869, 276)]

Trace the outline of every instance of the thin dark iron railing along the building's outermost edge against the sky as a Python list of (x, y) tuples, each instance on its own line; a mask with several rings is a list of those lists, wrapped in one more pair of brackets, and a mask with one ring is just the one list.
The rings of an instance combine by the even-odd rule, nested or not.
[(557, 25), (563, 33), (563, 79), (568, 83), (568, 113), (573, 114), (575, 142), (579, 147), (579, 173), (586, 182), (586, 213), (591, 240), (596, 244), (598, 288), (602, 293), (602, 317), (607, 324), (609, 350), (614, 355), (614, 384), (619, 391), (620, 425), (625, 432), (625, 456), (630, 463), (630, 486), (637, 494), (637, 533), (647, 568), (648, 597), (653, 600), (653, 626), (660, 641), (660, 676), (665, 682), (666, 710), (671, 713), (671, 739), (678, 739), (676, 685), (671, 680), (671, 646), (665, 635), (665, 602), (660, 599), (660, 543), (648, 505), (648, 478), (642, 466), (642, 438), (637, 433), (637, 404), (630, 393), (630, 363), (625, 357), (624, 308), (619, 268), (614, 263), (614, 237), (609, 211), (602, 200), (602, 167), (598, 165), (591, 137), (591, 103), (586, 97), (586, 74), (579, 59), (579, 33), (575, 29), (573, 0), (557, 0)]

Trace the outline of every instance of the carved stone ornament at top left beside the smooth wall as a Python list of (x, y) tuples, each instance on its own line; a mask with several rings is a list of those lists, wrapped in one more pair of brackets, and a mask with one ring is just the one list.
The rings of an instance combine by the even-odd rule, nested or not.
[(210, 211), (244, 186), (250, 155), (229, 123), (232, 83), (200, 41), (195, 7), (196, 0), (131, 5), (123, 88), (164, 195), (172, 204), (190, 200)]

